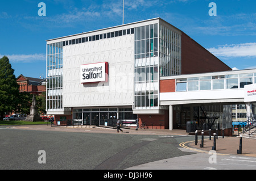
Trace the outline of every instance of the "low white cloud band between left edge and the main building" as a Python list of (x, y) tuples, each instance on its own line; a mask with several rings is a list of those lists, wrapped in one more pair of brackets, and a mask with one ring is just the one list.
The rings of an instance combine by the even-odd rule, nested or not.
[[(0, 54), (0, 57), (4, 55)], [(46, 61), (46, 54), (6, 54), (10, 62), (34, 62), (34, 61)]]

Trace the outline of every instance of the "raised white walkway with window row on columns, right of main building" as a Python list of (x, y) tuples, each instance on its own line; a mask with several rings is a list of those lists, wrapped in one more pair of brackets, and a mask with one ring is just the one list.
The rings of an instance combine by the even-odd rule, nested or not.
[[(184, 74), (160, 79), (160, 105), (169, 108), (169, 128), (181, 119), (215, 119), (232, 127), (232, 104), (246, 104), (255, 115), (256, 69)], [(253, 107), (253, 108), (252, 108)], [(200, 113), (201, 112), (201, 113)]]

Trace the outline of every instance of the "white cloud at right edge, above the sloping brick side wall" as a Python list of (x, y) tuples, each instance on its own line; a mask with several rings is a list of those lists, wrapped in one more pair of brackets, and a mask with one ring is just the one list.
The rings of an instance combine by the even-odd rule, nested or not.
[(209, 48), (209, 52), (219, 57), (256, 57), (256, 43), (220, 45)]

